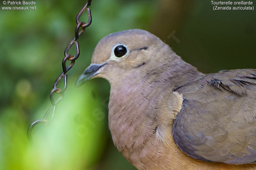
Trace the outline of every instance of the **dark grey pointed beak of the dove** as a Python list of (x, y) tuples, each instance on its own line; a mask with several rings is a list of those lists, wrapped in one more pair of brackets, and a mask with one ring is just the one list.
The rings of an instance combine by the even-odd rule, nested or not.
[(86, 80), (89, 80), (90, 78), (93, 78), (97, 74), (99, 74), (97, 71), (104, 66), (106, 63), (101, 64), (90, 64), (89, 67), (87, 67), (83, 74), (81, 74), (77, 80), (76, 80), (76, 87), (79, 87), (80, 85), (84, 84)]

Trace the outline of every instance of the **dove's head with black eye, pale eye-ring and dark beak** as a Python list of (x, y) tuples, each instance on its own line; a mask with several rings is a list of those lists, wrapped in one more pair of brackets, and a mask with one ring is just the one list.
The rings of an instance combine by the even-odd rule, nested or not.
[(164, 63), (180, 58), (155, 35), (140, 29), (111, 33), (97, 44), (91, 65), (77, 79), (76, 86), (101, 77), (110, 85), (126, 76), (139, 77)]

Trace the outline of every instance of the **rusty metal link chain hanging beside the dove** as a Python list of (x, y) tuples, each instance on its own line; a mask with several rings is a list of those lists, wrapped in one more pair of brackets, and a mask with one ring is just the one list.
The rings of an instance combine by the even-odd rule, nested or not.
[[(92, 2), (92, 0), (88, 0), (87, 3), (84, 5), (84, 7), (81, 9), (81, 11), (76, 16), (76, 24), (77, 25), (76, 25), (76, 30), (75, 30), (75, 38), (73, 38), (73, 40), (70, 41), (67, 48), (65, 49), (65, 52), (64, 52), (65, 57), (62, 60), (63, 72), (60, 73), (60, 76), (55, 80), (55, 82), (53, 84), (53, 88), (52, 88), (51, 93), (50, 93), (50, 100), (51, 100), (52, 106), (47, 110), (43, 119), (35, 120), (28, 127), (27, 135), (28, 135), (28, 140), (31, 144), (33, 144), (33, 140), (32, 140), (32, 137), (31, 137), (31, 131), (32, 131), (33, 127), (36, 126), (39, 123), (43, 123), (44, 125), (46, 125), (49, 121), (52, 120), (54, 112), (55, 112), (56, 105), (60, 102), (60, 100), (62, 100), (63, 94), (67, 89), (68, 75), (66, 75), (66, 73), (68, 72), (68, 70), (70, 70), (73, 67), (73, 65), (75, 64), (75, 60), (80, 55), (80, 49), (79, 49), (79, 44), (77, 42), (77, 39), (82, 35), (82, 33), (84, 33), (85, 28), (90, 26), (91, 23), (92, 23), (91, 9), (88, 8), (88, 6), (91, 5), (91, 2)], [(88, 15), (88, 22), (87, 23), (85, 23), (83, 21), (79, 21), (79, 18), (81, 17), (81, 15), (84, 13), (85, 10), (87, 10), (87, 15)], [(80, 27), (81, 27), (81, 30), (79, 31)], [(76, 45), (76, 55), (75, 56), (71, 55), (71, 54), (68, 54), (69, 49), (73, 46), (74, 43)], [(71, 63), (68, 65), (68, 67), (66, 67), (67, 60), (71, 61)], [(59, 82), (62, 78), (64, 80), (64, 87), (61, 89), (61, 88), (57, 87), (57, 85), (59, 84)], [(53, 99), (53, 94), (54, 93), (60, 94), (60, 97), (57, 100)], [(52, 116), (51, 116), (50, 120), (48, 120), (47, 118), (50, 115), (50, 113), (52, 113)]]

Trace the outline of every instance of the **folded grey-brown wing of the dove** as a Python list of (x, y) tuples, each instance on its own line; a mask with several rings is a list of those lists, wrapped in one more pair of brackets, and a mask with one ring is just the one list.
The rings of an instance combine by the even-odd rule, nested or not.
[(172, 133), (183, 152), (210, 162), (256, 162), (256, 70), (209, 74), (176, 91), (184, 101)]

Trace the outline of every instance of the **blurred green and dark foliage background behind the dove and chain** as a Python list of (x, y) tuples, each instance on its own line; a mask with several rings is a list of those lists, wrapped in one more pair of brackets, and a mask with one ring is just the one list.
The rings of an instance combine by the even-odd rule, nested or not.
[(213, 11), (205, 0), (93, 0), (92, 25), (79, 38), (80, 57), (68, 72), (64, 99), (48, 126), (33, 129), (31, 147), (28, 125), (51, 105), (49, 92), (86, 1), (35, 2), (34, 11), (0, 9), (0, 169), (135, 169), (112, 143), (108, 82), (74, 87), (109, 33), (145, 29), (204, 73), (256, 68), (254, 11)]

